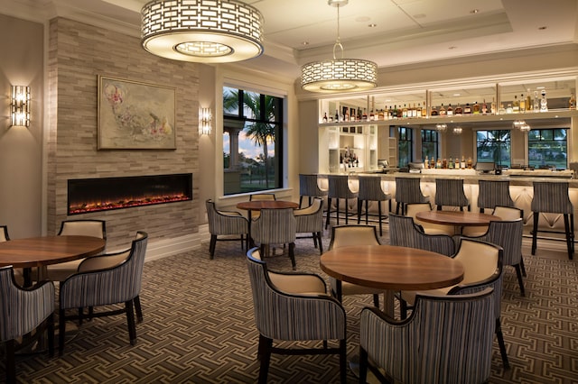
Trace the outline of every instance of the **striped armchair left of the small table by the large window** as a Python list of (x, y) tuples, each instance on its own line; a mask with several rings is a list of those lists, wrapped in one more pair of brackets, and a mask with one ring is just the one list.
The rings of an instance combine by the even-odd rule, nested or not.
[[(210, 259), (215, 257), (215, 247), (217, 242), (231, 242), (241, 241), (241, 249), (243, 242), (248, 249), (249, 242), (249, 222), (248, 220), (236, 211), (222, 211), (218, 210), (215, 202), (211, 199), (205, 201), (207, 208), (207, 218), (209, 220), (210, 244), (209, 253)], [(239, 237), (230, 237), (231, 235), (238, 235)], [(227, 237), (219, 237), (227, 236)]]

